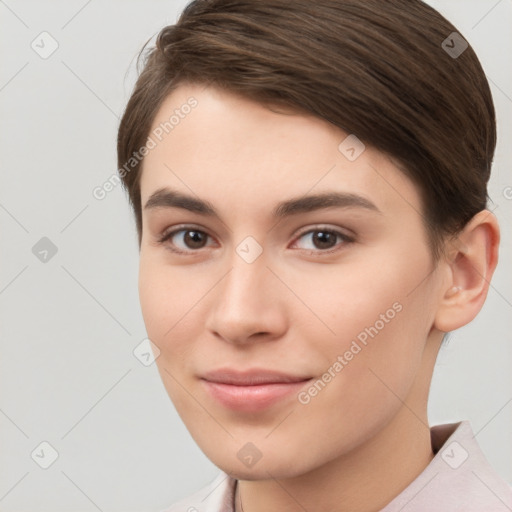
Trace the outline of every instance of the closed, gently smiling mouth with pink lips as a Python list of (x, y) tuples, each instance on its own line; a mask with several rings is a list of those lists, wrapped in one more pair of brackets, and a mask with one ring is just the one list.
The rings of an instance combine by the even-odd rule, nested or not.
[(200, 379), (210, 396), (224, 407), (257, 412), (298, 393), (312, 377), (272, 370), (221, 369)]

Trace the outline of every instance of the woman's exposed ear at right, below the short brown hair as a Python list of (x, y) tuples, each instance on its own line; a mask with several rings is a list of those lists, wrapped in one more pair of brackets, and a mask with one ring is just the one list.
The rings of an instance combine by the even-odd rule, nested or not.
[(477, 213), (446, 245), (447, 279), (441, 289), (434, 327), (453, 331), (476, 317), (498, 263), (500, 230), (489, 210)]

